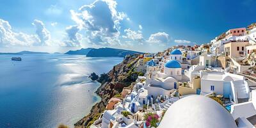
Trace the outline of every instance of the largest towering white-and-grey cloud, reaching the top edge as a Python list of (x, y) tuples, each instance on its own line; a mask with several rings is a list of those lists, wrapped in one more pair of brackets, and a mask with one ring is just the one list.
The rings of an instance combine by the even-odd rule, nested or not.
[(118, 44), (120, 21), (127, 19), (127, 15), (118, 12), (116, 4), (113, 0), (97, 0), (81, 6), (78, 12), (70, 10), (70, 13), (78, 28), (86, 30), (93, 44)]

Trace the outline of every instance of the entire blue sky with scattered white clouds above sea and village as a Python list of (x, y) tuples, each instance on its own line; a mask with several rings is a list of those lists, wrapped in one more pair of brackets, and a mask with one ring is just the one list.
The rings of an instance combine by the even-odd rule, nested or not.
[(255, 6), (255, 0), (1, 0), (0, 52), (200, 45), (256, 22)]

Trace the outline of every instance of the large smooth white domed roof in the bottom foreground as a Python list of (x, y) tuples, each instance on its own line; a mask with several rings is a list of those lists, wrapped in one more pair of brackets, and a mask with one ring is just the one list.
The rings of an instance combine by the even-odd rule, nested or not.
[(232, 115), (218, 102), (202, 95), (191, 95), (170, 106), (159, 127), (215, 128), (237, 125)]

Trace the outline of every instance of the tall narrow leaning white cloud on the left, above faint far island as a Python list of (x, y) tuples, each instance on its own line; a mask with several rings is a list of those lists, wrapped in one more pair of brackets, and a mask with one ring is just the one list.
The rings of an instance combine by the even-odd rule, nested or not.
[(36, 45), (50, 45), (49, 40), (51, 40), (51, 33), (45, 28), (45, 25), (40, 20), (34, 20), (32, 23), (36, 28), (36, 35), (40, 39), (40, 43)]

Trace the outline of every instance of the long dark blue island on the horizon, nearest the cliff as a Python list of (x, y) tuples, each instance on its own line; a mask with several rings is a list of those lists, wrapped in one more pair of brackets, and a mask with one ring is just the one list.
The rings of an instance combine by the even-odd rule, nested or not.
[(87, 48), (80, 49), (77, 51), (68, 51), (65, 54), (81, 54), (86, 55), (88, 57), (124, 57), (127, 54), (143, 54), (143, 52), (104, 47), (99, 49)]

